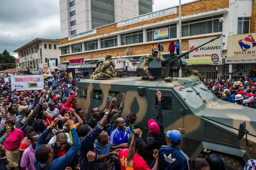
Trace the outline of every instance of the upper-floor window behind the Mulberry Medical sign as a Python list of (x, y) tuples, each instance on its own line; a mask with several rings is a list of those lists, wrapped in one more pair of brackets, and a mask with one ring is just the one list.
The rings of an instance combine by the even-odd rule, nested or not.
[[(154, 33), (156, 30), (164, 30), (164, 29), (168, 29), (168, 37), (158, 38), (158, 39), (154, 38)], [(177, 38), (177, 24), (170, 24), (170, 25), (155, 27), (152, 29), (147, 29), (147, 42), (167, 40), (170, 38)]]

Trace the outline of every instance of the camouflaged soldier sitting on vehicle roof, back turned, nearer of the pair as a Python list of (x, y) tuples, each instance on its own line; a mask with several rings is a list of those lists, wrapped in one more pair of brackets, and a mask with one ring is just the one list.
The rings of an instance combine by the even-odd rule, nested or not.
[(93, 79), (97, 78), (112, 78), (116, 76), (114, 71), (115, 62), (112, 61), (111, 55), (108, 54), (106, 56), (106, 61), (103, 62), (102, 66), (100, 67), (100, 72), (94, 75)]

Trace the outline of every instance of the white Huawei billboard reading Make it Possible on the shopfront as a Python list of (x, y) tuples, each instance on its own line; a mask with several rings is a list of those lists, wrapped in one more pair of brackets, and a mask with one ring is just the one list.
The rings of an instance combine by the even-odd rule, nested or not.
[[(197, 40), (189, 40), (189, 50), (192, 50), (213, 38), (205, 38), (205, 39), (197, 39)], [(221, 64), (221, 39), (217, 39), (211, 43), (208, 43), (191, 53), (189, 53), (189, 59), (187, 61), (188, 64), (212, 64), (212, 56), (218, 58), (219, 61), (216, 63)]]

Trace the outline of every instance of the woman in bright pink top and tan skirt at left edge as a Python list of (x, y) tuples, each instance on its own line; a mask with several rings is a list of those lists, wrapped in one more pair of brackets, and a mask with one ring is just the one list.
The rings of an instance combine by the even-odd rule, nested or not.
[[(9, 137), (7, 137), (4, 141), (4, 147), (5, 147), (5, 156), (10, 164), (11, 169), (14, 169), (15, 167), (18, 167), (21, 163), (21, 156), (19, 152), (19, 147), (21, 140), (24, 138), (24, 133), (22, 130), (14, 128), (15, 122), (14, 120), (7, 120), (5, 122), (7, 125), (7, 129), (10, 128), (11, 132), (9, 134)], [(3, 136), (6, 134), (6, 132), (3, 134)]]

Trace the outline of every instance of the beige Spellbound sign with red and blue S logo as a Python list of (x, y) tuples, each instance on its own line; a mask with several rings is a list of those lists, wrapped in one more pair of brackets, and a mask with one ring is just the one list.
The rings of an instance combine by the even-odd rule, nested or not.
[(227, 57), (256, 56), (256, 33), (228, 37)]

